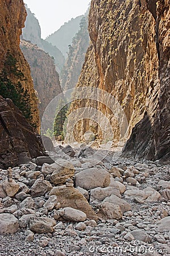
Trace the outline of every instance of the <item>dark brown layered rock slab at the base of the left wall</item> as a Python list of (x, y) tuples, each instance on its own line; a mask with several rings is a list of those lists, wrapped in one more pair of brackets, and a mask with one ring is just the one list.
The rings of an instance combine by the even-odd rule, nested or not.
[(44, 151), (39, 136), (13, 102), (0, 96), (0, 168), (19, 164), (20, 158), (36, 158)]

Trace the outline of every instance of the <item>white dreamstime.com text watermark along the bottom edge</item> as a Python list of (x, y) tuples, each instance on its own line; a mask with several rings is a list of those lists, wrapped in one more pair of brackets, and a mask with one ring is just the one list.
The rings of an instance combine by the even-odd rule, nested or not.
[(167, 249), (155, 249), (153, 246), (141, 245), (138, 240), (134, 241), (134, 245), (129, 246), (98, 246), (94, 243), (93, 246), (89, 247), (90, 253), (108, 253), (114, 255), (122, 253), (168, 253)]

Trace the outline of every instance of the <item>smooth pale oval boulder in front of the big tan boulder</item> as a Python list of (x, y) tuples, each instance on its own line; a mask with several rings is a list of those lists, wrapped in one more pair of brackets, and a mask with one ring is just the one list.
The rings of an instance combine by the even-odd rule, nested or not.
[(86, 213), (82, 212), (82, 210), (74, 209), (71, 207), (66, 207), (63, 210), (64, 214), (62, 218), (64, 220), (73, 222), (81, 222), (86, 220)]

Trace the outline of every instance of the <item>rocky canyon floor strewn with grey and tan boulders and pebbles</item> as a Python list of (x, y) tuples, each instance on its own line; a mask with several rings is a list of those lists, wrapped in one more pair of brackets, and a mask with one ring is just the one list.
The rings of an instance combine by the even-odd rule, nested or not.
[(170, 255), (170, 166), (61, 148), (0, 171), (0, 255)]

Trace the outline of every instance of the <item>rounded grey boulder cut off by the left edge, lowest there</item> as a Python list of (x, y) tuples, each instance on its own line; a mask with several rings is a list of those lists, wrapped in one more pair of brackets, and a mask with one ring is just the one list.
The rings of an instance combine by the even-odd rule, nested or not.
[(12, 234), (19, 228), (19, 223), (14, 215), (9, 213), (0, 214), (0, 234)]

